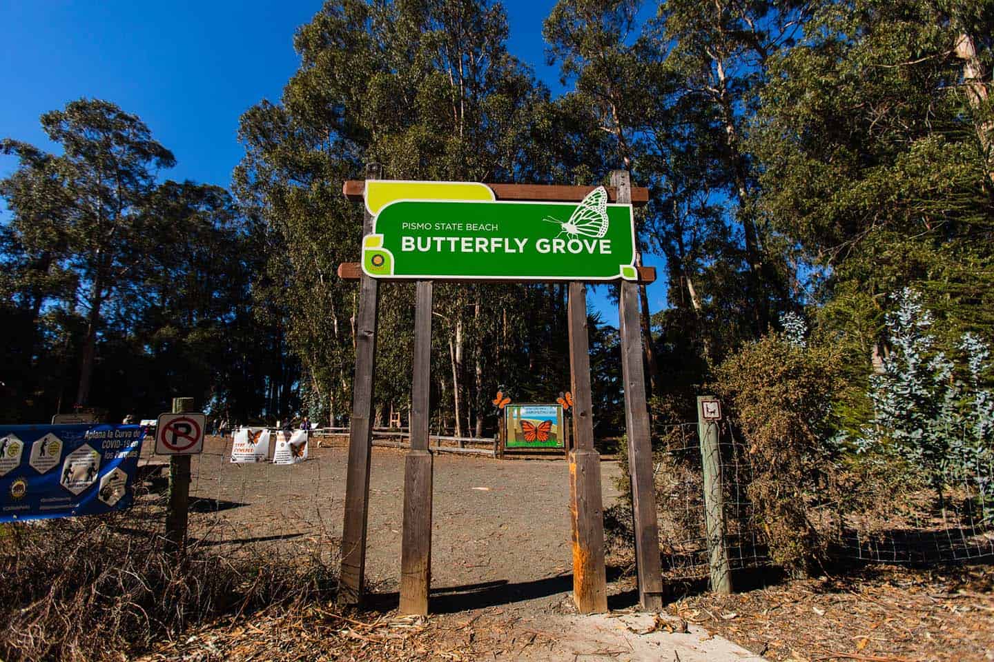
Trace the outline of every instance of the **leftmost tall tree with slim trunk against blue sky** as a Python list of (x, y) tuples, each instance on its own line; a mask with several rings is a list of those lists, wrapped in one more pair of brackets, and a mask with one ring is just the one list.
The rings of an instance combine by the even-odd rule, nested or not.
[[(160, 219), (146, 213), (146, 202), (158, 170), (175, 159), (144, 122), (108, 101), (71, 101), (41, 121), (63, 153), (45, 155), (4, 140), (4, 152), (16, 154), (20, 168), (0, 191), (13, 213), (12, 231), (36, 257), (32, 271), (75, 277), (72, 305), (79, 304), (86, 319), (76, 397), (83, 404), (104, 307), (119, 303), (142, 277), (160, 227)], [(33, 307), (40, 309), (35, 292)]]

